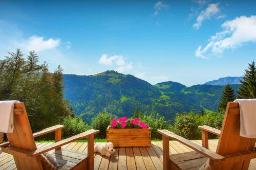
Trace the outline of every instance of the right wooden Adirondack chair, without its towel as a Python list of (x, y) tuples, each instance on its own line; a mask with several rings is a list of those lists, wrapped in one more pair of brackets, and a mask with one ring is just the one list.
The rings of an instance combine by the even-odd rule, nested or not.
[[(208, 126), (202, 130), (202, 145), (197, 145), (167, 130), (158, 130), (163, 136), (164, 169), (248, 169), (250, 159), (256, 158), (256, 138), (241, 137), (240, 110), (236, 102), (228, 102), (221, 131)], [(208, 150), (208, 133), (219, 135), (216, 152)], [(169, 139), (175, 139), (195, 150), (169, 155)]]

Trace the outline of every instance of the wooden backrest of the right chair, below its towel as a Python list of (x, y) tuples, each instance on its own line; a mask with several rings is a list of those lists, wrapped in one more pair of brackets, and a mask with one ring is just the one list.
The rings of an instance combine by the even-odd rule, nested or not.
[[(240, 136), (240, 109), (237, 102), (228, 102), (221, 135), (216, 153), (220, 155), (233, 154), (246, 150), (253, 150), (256, 138), (245, 138)], [(239, 161), (234, 164), (223, 164), (222, 169), (247, 169), (250, 160)]]

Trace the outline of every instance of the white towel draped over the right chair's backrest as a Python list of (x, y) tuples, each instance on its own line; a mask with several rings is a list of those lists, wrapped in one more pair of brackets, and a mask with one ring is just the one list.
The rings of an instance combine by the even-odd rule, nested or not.
[(240, 136), (256, 138), (256, 99), (237, 99), (240, 107)]

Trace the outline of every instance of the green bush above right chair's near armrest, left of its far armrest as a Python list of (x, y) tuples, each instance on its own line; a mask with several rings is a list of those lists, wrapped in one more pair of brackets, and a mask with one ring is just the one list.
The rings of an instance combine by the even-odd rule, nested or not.
[(198, 122), (193, 112), (190, 112), (188, 114), (178, 113), (175, 117), (172, 131), (177, 135), (180, 135), (187, 139), (200, 138)]

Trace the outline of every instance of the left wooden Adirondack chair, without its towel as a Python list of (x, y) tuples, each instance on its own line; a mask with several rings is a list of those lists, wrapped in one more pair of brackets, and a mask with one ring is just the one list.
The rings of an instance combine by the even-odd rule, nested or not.
[[(94, 134), (98, 130), (89, 130), (70, 138), (61, 140), (61, 129), (57, 125), (32, 134), (24, 103), (14, 105), (14, 130), (7, 133), (8, 141), (0, 144), (2, 151), (12, 154), (17, 169), (42, 169), (42, 153), (54, 150), (51, 155), (60, 165), (60, 169), (93, 169), (94, 168)], [(55, 143), (36, 148), (34, 137), (55, 132)], [(80, 153), (61, 148), (74, 140), (88, 138), (88, 153)]]

